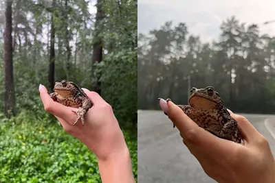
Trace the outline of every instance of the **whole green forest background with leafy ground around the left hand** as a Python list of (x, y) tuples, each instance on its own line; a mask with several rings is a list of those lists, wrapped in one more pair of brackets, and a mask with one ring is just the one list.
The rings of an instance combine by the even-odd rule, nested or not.
[(111, 104), (137, 180), (137, 0), (0, 2), (0, 182), (101, 182), (96, 156), (45, 112), (68, 80)]

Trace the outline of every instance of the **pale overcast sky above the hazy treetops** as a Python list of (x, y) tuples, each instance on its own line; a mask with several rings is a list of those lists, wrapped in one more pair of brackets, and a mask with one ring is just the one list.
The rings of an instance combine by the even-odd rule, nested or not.
[(188, 31), (201, 40), (217, 40), (222, 21), (236, 16), (245, 23), (257, 23), (261, 33), (275, 36), (275, 0), (138, 0), (138, 32), (148, 33), (173, 21), (186, 23)]

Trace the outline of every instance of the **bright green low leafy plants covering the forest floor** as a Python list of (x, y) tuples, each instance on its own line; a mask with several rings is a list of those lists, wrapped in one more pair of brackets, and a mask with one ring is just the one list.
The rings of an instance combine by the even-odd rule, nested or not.
[[(101, 182), (96, 156), (59, 123), (25, 110), (0, 119), (0, 182)], [(137, 137), (124, 136), (137, 180)]]

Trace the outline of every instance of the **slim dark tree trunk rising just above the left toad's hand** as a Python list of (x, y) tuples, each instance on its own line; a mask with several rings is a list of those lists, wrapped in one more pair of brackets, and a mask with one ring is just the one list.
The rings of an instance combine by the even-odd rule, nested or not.
[[(56, 3), (56, 0), (52, 0), (52, 7), (54, 8), (54, 5)], [(54, 60), (55, 60), (55, 52), (54, 52), (54, 12), (52, 13), (52, 25), (51, 25), (51, 40), (50, 40), (50, 65), (49, 65), (49, 86), (50, 90), (54, 91)]]

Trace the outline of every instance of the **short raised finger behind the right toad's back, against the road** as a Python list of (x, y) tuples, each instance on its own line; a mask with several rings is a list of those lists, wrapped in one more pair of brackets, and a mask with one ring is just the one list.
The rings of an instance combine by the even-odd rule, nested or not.
[(245, 138), (245, 141), (252, 143), (253, 141), (258, 141), (259, 135), (261, 135), (256, 128), (246, 119), (239, 114), (231, 114), (231, 117), (238, 122), (238, 129), (241, 136)]

